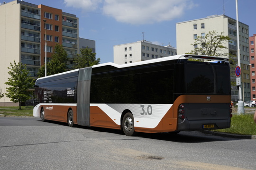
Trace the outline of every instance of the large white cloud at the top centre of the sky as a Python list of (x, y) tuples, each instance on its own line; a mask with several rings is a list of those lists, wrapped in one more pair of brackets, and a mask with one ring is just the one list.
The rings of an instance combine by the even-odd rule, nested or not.
[(179, 18), (195, 6), (191, 0), (105, 0), (103, 13), (129, 24), (152, 24)]

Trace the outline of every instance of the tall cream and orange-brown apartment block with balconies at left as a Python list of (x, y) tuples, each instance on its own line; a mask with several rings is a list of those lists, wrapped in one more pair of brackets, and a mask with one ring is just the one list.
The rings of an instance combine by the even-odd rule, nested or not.
[[(67, 51), (67, 68), (72, 68), (73, 58), (76, 57), (80, 45), (79, 19), (75, 15), (45, 5), (14, 0), (0, 5), (0, 23), (2, 93), (6, 93), (7, 85), (4, 83), (8, 81), (10, 62), (15, 60), (17, 63), (26, 64), (30, 75), (37, 78), (38, 69), (45, 64), (45, 56), (49, 61), (56, 43), (62, 44)], [(13, 104), (9, 98), (0, 99), (0, 105)]]

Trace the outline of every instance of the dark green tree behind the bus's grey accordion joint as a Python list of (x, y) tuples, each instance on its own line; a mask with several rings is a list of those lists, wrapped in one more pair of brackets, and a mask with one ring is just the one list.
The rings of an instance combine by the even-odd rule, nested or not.
[(85, 49), (81, 48), (80, 51), (81, 54), (77, 54), (76, 58), (73, 60), (73, 69), (86, 68), (100, 64), (101, 59), (96, 59), (96, 53), (92, 53), (92, 49), (86, 47)]

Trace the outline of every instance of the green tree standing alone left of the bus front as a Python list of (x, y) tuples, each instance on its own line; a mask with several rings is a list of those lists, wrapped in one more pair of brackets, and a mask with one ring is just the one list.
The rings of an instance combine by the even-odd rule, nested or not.
[(30, 77), (26, 65), (22, 65), (22, 63), (16, 64), (14, 61), (13, 64), (10, 63), (9, 69), (10, 78), (8, 78), (8, 82), (5, 82), (9, 87), (6, 87), (5, 95), (10, 98), (10, 101), (18, 102), (19, 109), (21, 109), (21, 103), (31, 98), (30, 95), (33, 92), (29, 89), (33, 88), (34, 79)]

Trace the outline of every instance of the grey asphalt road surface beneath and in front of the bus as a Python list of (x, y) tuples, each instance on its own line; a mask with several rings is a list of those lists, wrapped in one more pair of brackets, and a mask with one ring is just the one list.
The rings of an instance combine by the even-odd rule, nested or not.
[(256, 140), (0, 118), (0, 170), (256, 170)]

